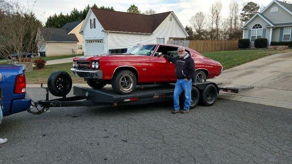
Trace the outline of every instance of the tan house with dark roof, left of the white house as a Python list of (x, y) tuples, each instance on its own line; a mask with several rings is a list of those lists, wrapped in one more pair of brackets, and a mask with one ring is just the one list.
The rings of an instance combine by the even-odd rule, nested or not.
[(82, 23), (83, 20), (79, 20), (66, 23), (62, 28), (39, 28), (39, 53), (46, 56), (82, 54), (82, 35), (79, 33)]

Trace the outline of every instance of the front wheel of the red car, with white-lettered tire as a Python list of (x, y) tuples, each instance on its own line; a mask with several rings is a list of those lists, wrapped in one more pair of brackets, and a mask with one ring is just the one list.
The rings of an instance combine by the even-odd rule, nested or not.
[(123, 70), (114, 75), (111, 87), (119, 94), (130, 94), (136, 88), (137, 80), (134, 73)]

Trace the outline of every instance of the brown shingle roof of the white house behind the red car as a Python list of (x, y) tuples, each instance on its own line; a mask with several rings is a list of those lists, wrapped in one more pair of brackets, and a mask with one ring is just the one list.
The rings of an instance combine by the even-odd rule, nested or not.
[(106, 31), (153, 33), (171, 13), (143, 15), (91, 8), (95, 17)]

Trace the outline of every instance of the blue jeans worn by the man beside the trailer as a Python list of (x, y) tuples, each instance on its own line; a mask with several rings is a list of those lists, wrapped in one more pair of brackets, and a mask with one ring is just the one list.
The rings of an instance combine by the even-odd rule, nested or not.
[(184, 91), (184, 106), (183, 109), (189, 110), (191, 105), (191, 91), (192, 79), (186, 81), (185, 79), (177, 79), (173, 93), (174, 109), (180, 109), (180, 94)]

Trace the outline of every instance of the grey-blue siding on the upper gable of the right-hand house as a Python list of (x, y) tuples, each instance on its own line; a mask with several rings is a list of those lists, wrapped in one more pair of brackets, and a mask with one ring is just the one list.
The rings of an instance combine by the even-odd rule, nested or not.
[[(278, 12), (271, 13), (271, 9), (273, 7), (278, 8)], [(271, 5), (265, 12), (262, 13), (268, 19), (270, 19), (273, 23), (288, 23), (292, 22), (292, 15), (284, 10), (281, 6), (274, 3)]]

